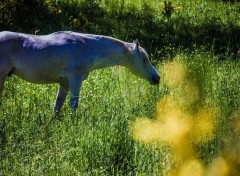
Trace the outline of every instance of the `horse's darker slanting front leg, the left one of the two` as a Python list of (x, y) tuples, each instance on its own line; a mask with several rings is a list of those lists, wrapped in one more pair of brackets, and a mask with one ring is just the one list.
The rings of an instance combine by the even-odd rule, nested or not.
[(54, 114), (58, 114), (58, 112), (60, 111), (68, 92), (69, 92), (68, 86), (62, 86), (62, 85), (59, 86), (56, 101), (53, 107)]

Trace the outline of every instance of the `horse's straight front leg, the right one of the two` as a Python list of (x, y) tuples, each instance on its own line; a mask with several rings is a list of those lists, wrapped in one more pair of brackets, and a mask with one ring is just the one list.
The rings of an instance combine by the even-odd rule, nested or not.
[(79, 92), (82, 81), (82, 75), (72, 76), (69, 78), (70, 107), (73, 111), (75, 111), (78, 107)]

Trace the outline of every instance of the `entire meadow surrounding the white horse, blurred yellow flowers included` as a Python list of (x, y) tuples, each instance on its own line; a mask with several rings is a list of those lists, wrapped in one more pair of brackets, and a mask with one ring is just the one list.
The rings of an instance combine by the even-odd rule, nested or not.
[(152, 87), (122, 67), (93, 71), (74, 123), (67, 103), (52, 116), (56, 85), (8, 78), (0, 175), (240, 172), (238, 1), (5, 0), (0, 30), (138, 38), (162, 78)]

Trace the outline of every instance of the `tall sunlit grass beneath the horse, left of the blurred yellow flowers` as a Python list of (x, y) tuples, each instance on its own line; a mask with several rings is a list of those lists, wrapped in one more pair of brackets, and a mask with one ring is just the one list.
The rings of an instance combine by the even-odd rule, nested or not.
[(56, 91), (57, 85), (34, 85), (16, 77), (6, 81), (0, 110), (0, 172), (134, 172), (137, 166), (128, 123), (153, 112), (159, 95), (156, 87), (121, 67), (94, 71), (83, 83), (74, 123), (68, 100), (61, 119), (53, 117)]

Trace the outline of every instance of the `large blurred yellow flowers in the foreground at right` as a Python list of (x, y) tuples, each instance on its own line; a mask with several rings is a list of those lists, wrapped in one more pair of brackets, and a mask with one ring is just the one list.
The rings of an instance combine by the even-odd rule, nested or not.
[[(227, 176), (235, 175), (236, 164), (240, 166), (240, 142), (230, 145), (226, 155), (204, 166), (197, 159), (194, 145), (213, 139), (219, 111), (214, 106), (198, 104), (199, 87), (188, 79), (187, 66), (178, 61), (165, 63), (161, 71), (163, 82), (172, 92), (156, 105), (155, 119), (136, 119), (131, 125), (135, 140), (151, 145), (164, 142), (172, 149), (173, 165), (168, 175), (173, 176)], [(240, 111), (234, 114), (235, 129), (240, 132)], [(234, 164), (235, 165), (234, 165)], [(233, 170), (234, 172), (230, 172)]]

